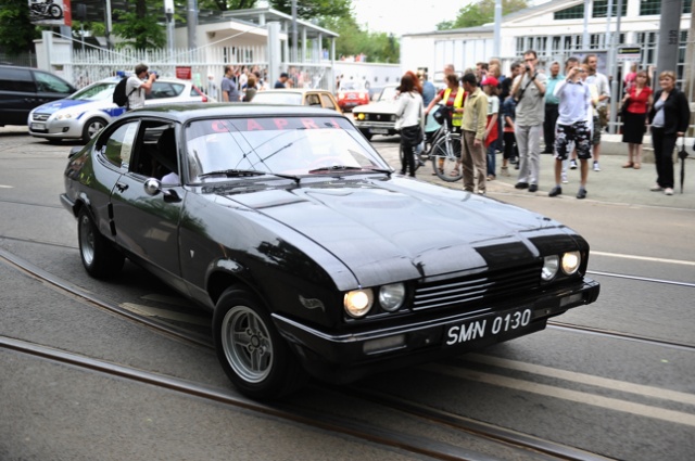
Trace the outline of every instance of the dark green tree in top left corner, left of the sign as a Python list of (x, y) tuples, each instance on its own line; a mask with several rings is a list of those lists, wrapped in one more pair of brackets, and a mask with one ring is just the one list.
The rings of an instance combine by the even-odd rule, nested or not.
[(29, 22), (29, 3), (26, 0), (3, 0), (0, 8), (0, 48), (8, 54), (34, 51), (34, 40), (40, 38), (39, 29)]

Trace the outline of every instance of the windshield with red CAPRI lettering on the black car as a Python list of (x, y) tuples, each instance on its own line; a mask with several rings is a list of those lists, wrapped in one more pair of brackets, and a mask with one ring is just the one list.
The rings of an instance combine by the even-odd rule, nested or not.
[(194, 120), (186, 129), (186, 149), (193, 183), (249, 171), (334, 176), (391, 170), (349, 120), (334, 117)]

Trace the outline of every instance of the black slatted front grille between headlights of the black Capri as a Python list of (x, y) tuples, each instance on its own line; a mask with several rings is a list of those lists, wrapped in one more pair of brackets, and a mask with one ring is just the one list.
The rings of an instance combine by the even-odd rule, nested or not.
[(413, 310), (468, 303), (476, 305), (476, 302), (483, 300), (488, 304), (494, 299), (509, 298), (539, 287), (540, 276), (540, 266), (531, 265), (419, 283), (415, 289)]

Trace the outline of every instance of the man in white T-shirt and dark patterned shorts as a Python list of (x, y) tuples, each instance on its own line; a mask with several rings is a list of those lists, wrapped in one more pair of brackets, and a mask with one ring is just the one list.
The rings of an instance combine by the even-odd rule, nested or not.
[(563, 162), (567, 159), (570, 145), (577, 149), (580, 166), (580, 185), (577, 199), (586, 197), (587, 161), (591, 158), (591, 125), (592, 113), (591, 91), (581, 78), (585, 69), (574, 65), (568, 71), (567, 78), (555, 87), (558, 99), (557, 128), (555, 131), (555, 187), (548, 193), (554, 197), (563, 193), (560, 175)]

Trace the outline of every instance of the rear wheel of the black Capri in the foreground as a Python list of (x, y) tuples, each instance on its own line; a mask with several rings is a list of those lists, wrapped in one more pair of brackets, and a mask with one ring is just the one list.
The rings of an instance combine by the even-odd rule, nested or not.
[(77, 217), (77, 236), (79, 255), (90, 276), (101, 279), (121, 271), (125, 256), (99, 233), (86, 208), (83, 208)]

